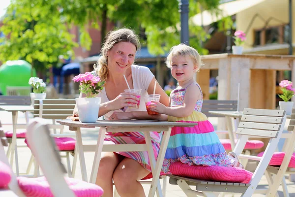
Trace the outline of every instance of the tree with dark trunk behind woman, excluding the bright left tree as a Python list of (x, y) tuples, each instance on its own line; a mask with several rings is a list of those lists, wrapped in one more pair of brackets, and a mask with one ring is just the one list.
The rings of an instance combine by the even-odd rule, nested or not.
[[(109, 20), (137, 33), (144, 30), (147, 40), (143, 44), (150, 53), (159, 55), (180, 42), (178, 3), (178, 0), (34, 0), (38, 5), (34, 9), (47, 10), (51, 17), (62, 17), (67, 24), (79, 26), (81, 45), (87, 49), (91, 46), (86, 31), (89, 25), (99, 28), (104, 37)], [(190, 16), (200, 12), (200, 5), (212, 14), (218, 13), (219, 0), (189, 0), (189, 3)], [(209, 35), (190, 22), (190, 36), (190, 45), (206, 53), (200, 47), (200, 40), (206, 40)]]

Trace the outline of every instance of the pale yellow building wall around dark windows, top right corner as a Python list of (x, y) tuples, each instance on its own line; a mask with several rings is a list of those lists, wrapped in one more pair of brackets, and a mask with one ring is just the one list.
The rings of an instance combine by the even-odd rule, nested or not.
[[(289, 0), (265, 0), (257, 5), (254, 5), (246, 10), (236, 14), (236, 30), (246, 31), (253, 17), (259, 14), (254, 19), (247, 34), (244, 49), (253, 48), (254, 31), (262, 29), (269, 21), (267, 27), (278, 26), (289, 23)], [(273, 18), (273, 19), (270, 19)], [(293, 43), (295, 42), (295, 1), (293, 1)], [(265, 45), (266, 46), (266, 45)], [(267, 51), (267, 54), (288, 54), (288, 49)], [(295, 53), (293, 53), (295, 54)]]

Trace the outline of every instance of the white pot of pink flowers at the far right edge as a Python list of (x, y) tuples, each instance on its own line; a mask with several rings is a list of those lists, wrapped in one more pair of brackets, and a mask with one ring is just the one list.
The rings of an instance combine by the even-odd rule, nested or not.
[(280, 82), (279, 86), (283, 94), (278, 95), (284, 101), (279, 101), (279, 106), (281, 110), (285, 110), (287, 115), (291, 115), (293, 108), (293, 101), (289, 101), (295, 95), (295, 89), (293, 89), (293, 82), (288, 80), (283, 80)]

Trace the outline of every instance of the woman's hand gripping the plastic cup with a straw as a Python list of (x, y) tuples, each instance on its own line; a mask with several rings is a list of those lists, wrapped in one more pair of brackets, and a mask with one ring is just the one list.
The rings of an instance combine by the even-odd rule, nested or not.
[(140, 100), (136, 96), (137, 94), (132, 92), (119, 94), (116, 99), (113, 99), (109, 102), (109, 110), (114, 111), (123, 107), (135, 107), (135, 104), (137, 104), (137, 102)]

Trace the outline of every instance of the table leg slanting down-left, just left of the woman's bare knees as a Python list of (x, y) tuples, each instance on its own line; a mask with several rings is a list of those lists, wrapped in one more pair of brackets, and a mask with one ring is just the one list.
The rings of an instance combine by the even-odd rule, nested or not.
[(92, 165), (92, 170), (91, 170), (91, 175), (90, 175), (90, 183), (93, 183), (93, 184), (95, 184), (95, 182), (96, 182), (96, 177), (97, 177), (97, 173), (98, 173), (98, 167), (99, 167), (99, 162), (100, 162), (101, 152), (102, 152), (102, 147), (103, 147), (103, 141), (104, 141), (106, 131), (107, 130), (105, 127), (101, 127), (99, 129), (99, 133), (98, 133), (95, 154), (94, 154), (94, 160), (93, 160), (93, 165)]

